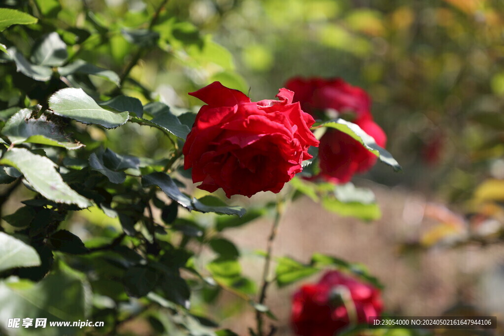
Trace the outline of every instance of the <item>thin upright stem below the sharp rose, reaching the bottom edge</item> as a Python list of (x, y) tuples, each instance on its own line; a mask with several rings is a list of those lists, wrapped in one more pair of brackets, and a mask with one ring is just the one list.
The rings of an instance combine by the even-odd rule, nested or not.
[[(264, 263), (263, 276), (262, 276), (262, 285), (261, 292), (259, 294), (258, 302), (259, 304), (264, 304), (266, 300), (266, 292), (268, 290), (268, 286), (271, 283), (271, 280), (268, 280), (268, 276), (270, 274), (271, 267), (271, 255), (273, 251), (273, 242), (277, 236), (278, 226), (280, 224), (280, 220), (282, 218), (282, 214), (284, 211), (285, 200), (278, 199), (276, 205), (275, 219), (273, 220), (273, 225), (271, 227), (270, 237), (268, 238), (267, 248), (266, 248), (266, 259)], [(256, 322), (257, 322), (257, 335), (263, 336), (263, 312), (256, 311)]]

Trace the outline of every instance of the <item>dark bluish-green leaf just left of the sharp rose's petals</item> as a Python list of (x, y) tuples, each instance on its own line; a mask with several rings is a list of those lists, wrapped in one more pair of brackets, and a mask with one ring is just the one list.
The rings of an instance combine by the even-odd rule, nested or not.
[(153, 126), (159, 128), (168, 134), (173, 134), (174, 136), (185, 140), (190, 132), (189, 127), (183, 125), (178, 118), (170, 112), (168, 105), (153, 102), (144, 106), (144, 112), (153, 116), (151, 120), (144, 118), (133, 117), (132, 122), (139, 124), (146, 124), (148, 126)]

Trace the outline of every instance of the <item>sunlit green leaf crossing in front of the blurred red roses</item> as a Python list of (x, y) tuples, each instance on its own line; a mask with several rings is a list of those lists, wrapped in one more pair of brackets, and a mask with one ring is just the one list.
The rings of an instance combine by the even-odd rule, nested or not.
[(380, 161), (388, 164), (395, 171), (401, 171), (402, 167), (399, 163), (392, 157), (392, 155), (387, 152), (384, 148), (378, 146), (374, 141), (374, 138), (368, 135), (366, 132), (362, 130), (358, 125), (346, 121), (344, 119), (338, 118), (326, 121), (324, 123), (318, 123), (314, 125), (315, 128), (319, 127), (331, 127), (342, 131), (343, 133), (349, 135), (353, 139), (357, 140), (362, 144), (369, 152), (376, 155)]

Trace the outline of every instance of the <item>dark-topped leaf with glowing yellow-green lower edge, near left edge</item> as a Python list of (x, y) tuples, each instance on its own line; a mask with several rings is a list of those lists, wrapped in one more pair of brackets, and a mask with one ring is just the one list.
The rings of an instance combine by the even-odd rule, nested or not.
[(7, 120), (2, 132), (12, 144), (35, 143), (65, 147), (69, 150), (79, 149), (84, 145), (71, 143), (58, 125), (47, 120), (42, 114), (38, 119), (31, 118), (32, 109), (23, 108)]

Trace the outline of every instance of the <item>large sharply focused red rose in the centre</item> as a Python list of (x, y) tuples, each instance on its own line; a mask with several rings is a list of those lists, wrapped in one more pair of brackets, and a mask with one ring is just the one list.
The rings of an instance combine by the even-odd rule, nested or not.
[(279, 192), (310, 159), (319, 141), (309, 127), (313, 118), (292, 103), (293, 92), (280, 89), (280, 100), (251, 102), (243, 93), (214, 82), (190, 95), (207, 103), (196, 117), (182, 149), (184, 169), (193, 168), (198, 188), (226, 196)]

